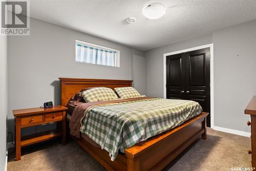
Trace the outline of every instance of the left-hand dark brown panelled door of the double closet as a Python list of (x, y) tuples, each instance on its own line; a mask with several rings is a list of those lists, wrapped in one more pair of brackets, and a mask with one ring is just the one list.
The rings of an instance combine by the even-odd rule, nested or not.
[(184, 99), (185, 62), (182, 54), (166, 57), (166, 98)]

